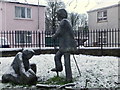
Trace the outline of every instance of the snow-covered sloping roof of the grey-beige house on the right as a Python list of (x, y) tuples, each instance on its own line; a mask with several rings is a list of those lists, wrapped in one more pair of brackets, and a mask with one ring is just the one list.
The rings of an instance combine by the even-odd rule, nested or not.
[(94, 8), (89, 10), (88, 13), (98, 11), (98, 10), (102, 10), (102, 9), (118, 7), (118, 6), (120, 6), (120, 2), (106, 2), (106, 3), (96, 5)]

